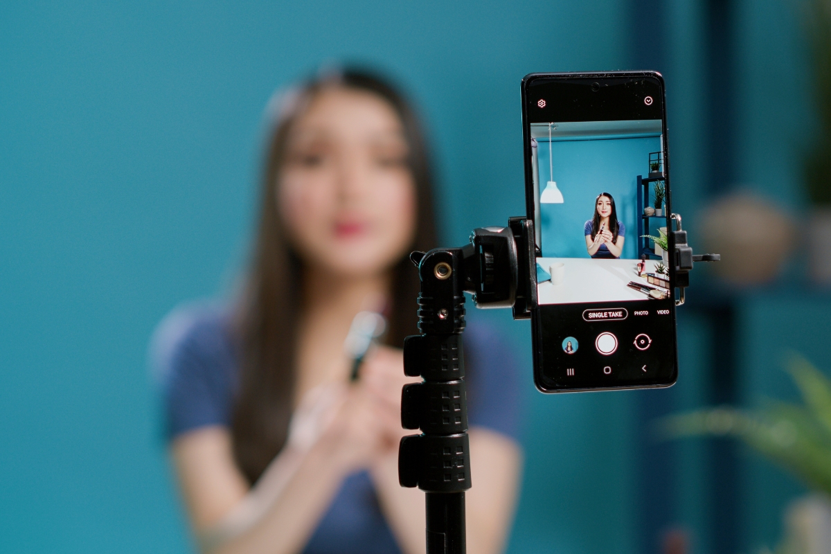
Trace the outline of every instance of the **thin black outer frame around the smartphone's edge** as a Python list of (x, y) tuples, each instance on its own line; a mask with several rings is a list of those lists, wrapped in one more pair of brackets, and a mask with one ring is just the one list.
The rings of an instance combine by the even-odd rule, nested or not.
[[(669, 214), (672, 213), (671, 208), (671, 186), (670, 186), (670, 153), (669, 153), (669, 137), (667, 135), (666, 125), (666, 86), (663, 76), (657, 71), (579, 71), (579, 72), (553, 72), (553, 73), (529, 73), (523, 77), (522, 80), (522, 124), (523, 124), (523, 164), (525, 168), (525, 211), (526, 217), (536, 223), (534, 218), (534, 175), (533, 167), (530, 163), (531, 159), (531, 136), (529, 123), (529, 102), (528, 89), (529, 85), (537, 79), (587, 79), (598, 81), (602, 79), (620, 79), (620, 78), (643, 78), (651, 77), (656, 79), (661, 86), (661, 132), (663, 134), (663, 154), (664, 154), (664, 187), (666, 189), (666, 219), (667, 230), (671, 230), (671, 218)], [(535, 240), (531, 237), (531, 240)], [(672, 233), (668, 233), (669, 251), (673, 252), (675, 248), (675, 240)], [(534, 256), (539, 257), (541, 252), (538, 251), (536, 243), (534, 243)], [(670, 290), (675, 291), (676, 273), (675, 265), (669, 264), (670, 271)], [(537, 287), (536, 272), (532, 272), (531, 276), (533, 286)], [(670, 302), (670, 319), (671, 319), (671, 335), (674, 341), (673, 351), (675, 353), (673, 360), (673, 370), (669, 380), (658, 384), (649, 385), (611, 385), (611, 386), (596, 386), (583, 388), (549, 388), (545, 385), (542, 378), (543, 374), (543, 336), (542, 336), (542, 322), (540, 321), (541, 311), (538, 304), (531, 308), (531, 341), (534, 360), (534, 386), (537, 390), (546, 394), (569, 393), (569, 392), (596, 392), (603, 390), (637, 390), (637, 389), (664, 389), (675, 385), (678, 379), (678, 338), (676, 326), (676, 306), (675, 302)]]

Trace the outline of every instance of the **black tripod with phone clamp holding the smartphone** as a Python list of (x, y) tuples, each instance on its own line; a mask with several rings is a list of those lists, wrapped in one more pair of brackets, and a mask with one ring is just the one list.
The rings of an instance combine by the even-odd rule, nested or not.
[[(669, 251), (677, 305), (693, 262), (717, 261), (717, 254), (694, 256), (687, 246), (681, 217), (669, 233)], [(465, 491), (470, 489), (465, 355), (465, 292), (479, 307), (509, 307), (514, 319), (529, 319), (537, 304), (534, 226), (509, 218), (506, 228), (477, 228), (462, 248), (412, 252), (421, 292), (418, 326), (421, 335), (404, 341), (404, 372), (423, 381), (401, 391), (401, 425), (421, 434), (401, 439), (398, 478), (402, 487), (425, 492), (427, 554), (465, 554)]]

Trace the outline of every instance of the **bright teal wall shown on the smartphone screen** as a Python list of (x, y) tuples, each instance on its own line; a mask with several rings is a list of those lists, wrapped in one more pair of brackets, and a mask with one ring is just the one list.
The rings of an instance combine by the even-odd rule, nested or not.
[[(544, 189), (548, 140), (538, 144), (539, 183)], [(553, 180), (563, 193), (563, 203), (539, 206), (543, 256), (589, 257), (584, 225), (593, 218), (597, 195), (608, 193), (625, 229), (620, 257), (637, 258), (637, 176), (647, 176), (649, 153), (661, 151), (661, 138), (557, 140), (551, 145)]]

